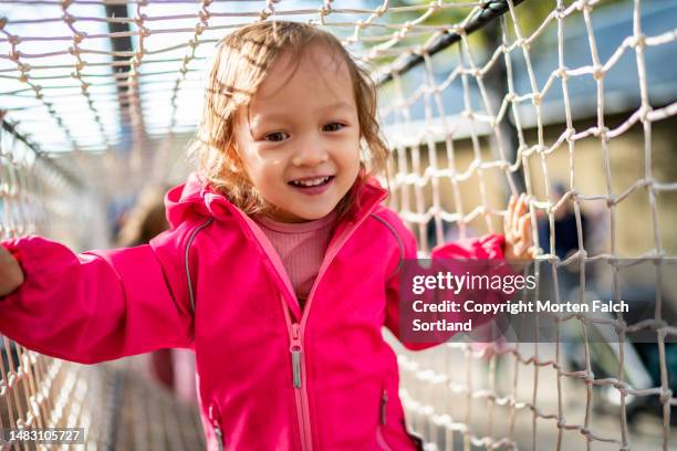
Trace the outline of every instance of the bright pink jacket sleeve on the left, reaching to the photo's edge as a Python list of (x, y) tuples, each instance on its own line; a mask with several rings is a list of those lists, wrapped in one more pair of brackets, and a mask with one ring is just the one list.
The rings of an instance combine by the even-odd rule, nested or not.
[(191, 345), (189, 303), (154, 247), (75, 254), (35, 235), (2, 245), (25, 275), (0, 297), (0, 333), (19, 344), (83, 364)]

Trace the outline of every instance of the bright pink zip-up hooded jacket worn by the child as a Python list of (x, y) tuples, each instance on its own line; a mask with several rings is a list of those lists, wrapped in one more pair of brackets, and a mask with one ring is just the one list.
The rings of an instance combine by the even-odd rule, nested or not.
[[(385, 197), (362, 188), (303, 312), (258, 226), (197, 176), (167, 193), (171, 230), (148, 245), (76, 255), (40, 237), (7, 241), (27, 281), (0, 302), (0, 333), (85, 364), (192, 348), (210, 451), (416, 449), (382, 335), (398, 336), (397, 273), (416, 242)], [(490, 235), (436, 252), (501, 248)]]

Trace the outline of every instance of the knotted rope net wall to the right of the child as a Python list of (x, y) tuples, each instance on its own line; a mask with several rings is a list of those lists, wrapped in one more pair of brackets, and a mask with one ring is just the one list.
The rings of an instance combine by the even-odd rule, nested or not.
[[(532, 3), (506, 3), (506, 13), (486, 24), (482, 36), (473, 39), (462, 24), (450, 27), (381, 72), (382, 124), (395, 148), (393, 204), (418, 232), (426, 255), (449, 238), (501, 231), (501, 193), (524, 190), (533, 229), (550, 226), (545, 235), (534, 233), (553, 250), (538, 258), (537, 271), (546, 262), (563, 284), (577, 266), (569, 296), (585, 303), (593, 290), (604, 292), (604, 282), (586, 283), (586, 265), (606, 265), (606, 290), (618, 296), (622, 262), (628, 263), (622, 259), (652, 262), (644, 283), (659, 289), (644, 301), (654, 315), (642, 324), (623, 314), (600, 322), (575, 317), (586, 332), (605, 324), (605, 343), (591, 333), (577, 344), (450, 343), (426, 356), (403, 352), (403, 399), (415, 429), (446, 449), (595, 443), (667, 450), (675, 443), (670, 411), (677, 398), (666, 342), (674, 342), (677, 327), (665, 317), (675, 300), (660, 292), (677, 250), (666, 228), (677, 178), (657, 164), (670, 151), (658, 138), (665, 129), (658, 122), (674, 124), (677, 96), (658, 94), (652, 71), (659, 70), (649, 61), (674, 49), (676, 23), (656, 27), (654, 14), (665, 11), (642, 1), (607, 9), (596, 1), (549, 2), (551, 10), (533, 24), (523, 18)], [(457, 45), (437, 52), (442, 40)], [(616, 96), (625, 97), (623, 105)], [(556, 180), (561, 185), (553, 189)], [(577, 239), (569, 254), (558, 255), (556, 221), (567, 211)], [(602, 234), (584, 231), (585, 216)], [(652, 331), (650, 345), (627, 338), (640, 328)], [(643, 364), (647, 349), (656, 358)], [(606, 369), (604, 359), (612, 361)], [(613, 408), (605, 410), (610, 399)], [(637, 403), (653, 405), (660, 439), (635, 434), (642, 430), (633, 415)]]

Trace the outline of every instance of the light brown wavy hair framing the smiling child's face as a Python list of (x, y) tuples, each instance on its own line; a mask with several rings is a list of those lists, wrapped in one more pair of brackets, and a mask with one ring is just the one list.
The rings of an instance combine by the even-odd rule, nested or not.
[[(340, 213), (353, 204), (358, 185), (386, 169), (389, 150), (376, 122), (376, 87), (367, 70), (357, 65), (333, 34), (313, 25), (291, 21), (257, 22), (219, 42), (201, 120), (189, 149), (201, 176), (247, 214), (265, 211), (265, 202), (251, 183), (237, 153), (237, 111), (249, 104), (280, 54), (294, 52), (300, 61), (311, 45), (321, 45), (345, 62), (357, 106), (364, 160), (355, 186), (338, 204)], [(368, 171), (365, 162), (368, 162)]]

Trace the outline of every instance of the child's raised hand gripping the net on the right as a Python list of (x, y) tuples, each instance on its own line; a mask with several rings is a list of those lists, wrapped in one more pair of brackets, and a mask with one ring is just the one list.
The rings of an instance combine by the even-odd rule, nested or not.
[(508, 213), (503, 220), (506, 232), (506, 260), (511, 261), (515, 271), (521, 271), (523, 264), (519, 260), (531, 260), (535, 256), (537, 249), (531, 239), (531, 218), (527, 208), (527, 195), (520, 197), (512, 195), (508, 204)]

